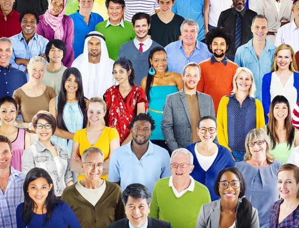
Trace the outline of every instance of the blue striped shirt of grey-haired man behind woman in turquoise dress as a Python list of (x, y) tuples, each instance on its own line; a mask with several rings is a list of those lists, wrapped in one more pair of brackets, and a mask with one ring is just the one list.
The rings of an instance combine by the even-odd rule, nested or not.
[(184, 66), (188, 63), (200, 63), (212, 56), (212, 53), (209, 52), (207, 45), (200, 41), (196, 41), (195, 49), (189, 56), (186, 56), (186, 53), (183, 49), (183, 41), (175, 41), (168, 44), (165, 47), (167, 53), (167, 63), (170, 71), (182, 74)]

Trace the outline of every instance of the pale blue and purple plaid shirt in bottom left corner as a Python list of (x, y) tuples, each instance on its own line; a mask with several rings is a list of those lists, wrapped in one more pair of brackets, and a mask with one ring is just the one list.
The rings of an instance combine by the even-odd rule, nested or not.
[(16, 228), (16, 207), (24, 202), (25, 174), (10, 166), (10, 176), (5, 193), (0, 190), (0, 228)]

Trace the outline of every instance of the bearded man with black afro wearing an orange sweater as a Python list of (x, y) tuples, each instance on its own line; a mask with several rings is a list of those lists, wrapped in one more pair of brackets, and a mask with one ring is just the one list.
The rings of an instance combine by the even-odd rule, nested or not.
[(206, 34), (206, 43), (213, 56), (199, 63), (201, 75), (197, 91), (212, 96), (217, 115), (221, 98), (230, 95), (233, 90), (233, 78), (238, 65), (225, 56), (232, 43), (232, 37), (226, 28), (211, 29)]

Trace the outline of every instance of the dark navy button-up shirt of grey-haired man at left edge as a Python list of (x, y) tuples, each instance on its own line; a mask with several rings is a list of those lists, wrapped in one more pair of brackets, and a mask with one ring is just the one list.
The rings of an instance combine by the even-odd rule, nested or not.
[(0, 97), (12, 97), (13, 91), (27, 83), (24, 72), (15, 69), (9, 64), (7, 67), (0, 66)]

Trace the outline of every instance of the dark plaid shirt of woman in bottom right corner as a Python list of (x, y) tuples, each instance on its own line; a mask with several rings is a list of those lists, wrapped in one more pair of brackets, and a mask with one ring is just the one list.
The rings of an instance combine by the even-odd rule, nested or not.
[(270, 211), (270, 226), (269, 228), (298, 228), (299, 227), (299, 206), (294, 212), (288, 215), (280, 224), (278, 224), (278, 217), (280, 205), (284, 199), (276, 201), (272, 204)]

